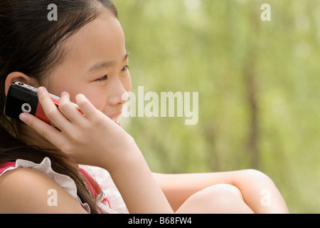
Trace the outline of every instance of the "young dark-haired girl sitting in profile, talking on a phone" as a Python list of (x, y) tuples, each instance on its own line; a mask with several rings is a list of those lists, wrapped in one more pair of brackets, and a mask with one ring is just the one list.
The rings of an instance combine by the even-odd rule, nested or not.
[[(152, 173), (119, 126), (131, 79), (117, 10), (108, 0), (55, 5), (50, 21), (48, 1), (0, 2), (1, 213), (288, 212), (255, 170)], [(15, 81), (38, 88), (52, 125), (2, 114)], [(60, 95), (58, 108), (48, 92)]]

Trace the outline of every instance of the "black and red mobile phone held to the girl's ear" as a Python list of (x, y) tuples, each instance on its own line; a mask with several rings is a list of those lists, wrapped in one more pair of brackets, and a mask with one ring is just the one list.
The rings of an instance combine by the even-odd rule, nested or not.
[[(58, 108), (60, 98), (50, 93), (49, 95)], [(78, 105), (75, 103), (72, 104), (80, 111)], [(30, 113), (51, 125), (51, 121), (46, 117), (41, 103), (39, 103), (37, 89), (17, 81), (10, 85), (8, 95), (6, 95), (4, 115), (20, 120), (19, 115), (21, 113)]]

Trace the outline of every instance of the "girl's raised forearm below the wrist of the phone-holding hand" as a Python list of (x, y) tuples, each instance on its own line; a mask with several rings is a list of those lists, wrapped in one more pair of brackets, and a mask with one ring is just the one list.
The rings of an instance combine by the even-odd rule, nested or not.
[(138, 147), (127, 152), (110, 175), (130, 213), (173, 212)]

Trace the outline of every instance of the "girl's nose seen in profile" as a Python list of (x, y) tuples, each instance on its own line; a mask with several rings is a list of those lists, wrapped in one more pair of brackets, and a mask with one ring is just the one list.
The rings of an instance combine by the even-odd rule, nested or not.
[(110, 99), (109, 105), (123, 105), (129, 98), (129, 91), (124, 88), (124, 85), (119, 80), (115, 79), (110, 83)]

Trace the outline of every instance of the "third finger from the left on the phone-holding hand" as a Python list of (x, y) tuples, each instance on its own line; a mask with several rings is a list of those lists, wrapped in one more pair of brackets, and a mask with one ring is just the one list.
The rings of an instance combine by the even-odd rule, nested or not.
[(67, 92), (60, 95), (59, 110), (72, 123), (81, 123), (84, 120), (82, 113), (71, 103), (70, 95)]

